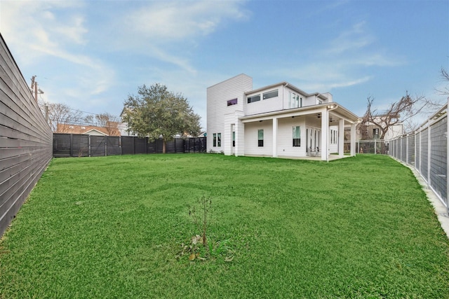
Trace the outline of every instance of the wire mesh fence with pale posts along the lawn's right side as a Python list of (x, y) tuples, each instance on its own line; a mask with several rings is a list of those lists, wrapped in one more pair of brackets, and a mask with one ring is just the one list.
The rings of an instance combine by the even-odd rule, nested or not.
[(449, 213), (448, 104), (415, 132), (389, 141), (389, 146), (389, 155), (415, 168)]

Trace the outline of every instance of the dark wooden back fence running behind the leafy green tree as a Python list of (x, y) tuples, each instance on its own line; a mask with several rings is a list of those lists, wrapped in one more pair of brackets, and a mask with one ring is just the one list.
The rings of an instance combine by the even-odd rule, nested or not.
[[(162, 139), (53, 134), (53, 157), (58, 158), (162, 153), (162, 146)], [(167, 141), (166, 153), (206, 153), (206, 137)]]

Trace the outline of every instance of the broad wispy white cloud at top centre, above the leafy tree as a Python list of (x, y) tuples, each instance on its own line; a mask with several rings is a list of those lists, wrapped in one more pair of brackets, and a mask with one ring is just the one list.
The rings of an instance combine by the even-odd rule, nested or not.
[(130, 51), (168, 62), (191, 74), (196, 69), (187, 48), (229, 20), (242, 20), (244, 1), (145, 1), (126, 11), (114, 27), (115, 50)]

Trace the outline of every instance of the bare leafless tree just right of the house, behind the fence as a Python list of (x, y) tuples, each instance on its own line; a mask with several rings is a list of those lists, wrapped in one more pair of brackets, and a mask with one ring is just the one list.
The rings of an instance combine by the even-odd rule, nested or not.
[(388, 106), (384, 111), (377, 111), (373, 108), (373, 97), (368, 97), (366, 113), (358, 125), (361, 139), (369, 139), (368, 127), (375, 126), (379, 129), (379, 138), (384, 139), (385, 135), (394, 125), (402, 124), (406, 131), (412, 131), (417, 127), (415, 116), (427, 116), (438, 110), (441, 105), (432, 102), (423, 95), (411, 97), (408, 92), (397, 102)]

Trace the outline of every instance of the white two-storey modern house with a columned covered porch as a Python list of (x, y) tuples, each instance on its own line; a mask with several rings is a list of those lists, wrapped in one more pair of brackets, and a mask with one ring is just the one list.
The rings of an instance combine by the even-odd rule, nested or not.
[(225, 155), (302, 158), (344, 155), (344, 127), (355, 155), (359, 118), (330, 93), (307, 93), (287, 82), (253, 89), (240, 74), (207, 89), (207, 148)]

